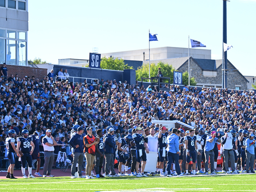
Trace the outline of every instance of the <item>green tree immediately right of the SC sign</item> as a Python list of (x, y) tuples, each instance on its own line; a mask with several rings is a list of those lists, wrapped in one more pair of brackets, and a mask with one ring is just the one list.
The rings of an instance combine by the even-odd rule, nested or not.
[(125, 70), (125, 69), (133, 69), (133, 67), (128, 66), (125, 64), (123, 59), (114, 59), (113, 57), (106, 58), (105, 56), (100, 61), (100, 67), (102, 69), (108, 70)]

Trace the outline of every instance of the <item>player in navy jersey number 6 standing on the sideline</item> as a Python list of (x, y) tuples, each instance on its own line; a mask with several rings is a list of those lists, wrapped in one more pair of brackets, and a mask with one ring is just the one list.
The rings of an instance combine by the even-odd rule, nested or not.
[(198, 152), (199, 155), (201, 155), (201, 153), (198, 151), (197, 140), (194, 134), (195, 134), (195, 131), (193, 129), (190, 129), (189, 136), (184, 137), (185, 148), (186, 148), (186, 175), (189, 175), (188, 169), (189, 169), (189, 162), (191, 158), (193, 162), (193, 175), (198, 175), (197, 173), (195, 173), (196, 151)]

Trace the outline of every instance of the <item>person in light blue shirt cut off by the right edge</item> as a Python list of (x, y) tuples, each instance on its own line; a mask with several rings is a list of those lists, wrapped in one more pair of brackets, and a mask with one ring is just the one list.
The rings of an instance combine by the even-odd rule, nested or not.
[[(254, 172), (254, 148), (256, 147), (254, 134), (250, 133), (249, 137), (246, 139), (246, 173), (249, 173), (249, 168), (251, 173)], [(250, 162), (250, 163), (249, 163)]]

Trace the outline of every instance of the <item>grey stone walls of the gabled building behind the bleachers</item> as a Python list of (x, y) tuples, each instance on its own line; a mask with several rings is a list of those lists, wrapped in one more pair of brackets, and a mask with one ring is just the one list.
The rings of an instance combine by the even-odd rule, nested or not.
[[(195, 61), (190, 58), (190, 70), (191, 70), (191, 77), (194, 77), (198, 84), (222, 84), (222, 67), (217, 69), (217, 76), (216, 77), (205, 77), (203, 76), (203, 70), (195, 63)], [(227, 64), (228, 69), (233, 69), (234, 67), (228, 62)], [(181, 72), (188, 71), (188, 61), (177, 69)], [(241, 90), (247, 90), (247, 81), (239, 74), (238, 71), (236, 72), (227, 72), (227, 88), (228, 89), (236, 89), (236, 85), (240, 85)]]

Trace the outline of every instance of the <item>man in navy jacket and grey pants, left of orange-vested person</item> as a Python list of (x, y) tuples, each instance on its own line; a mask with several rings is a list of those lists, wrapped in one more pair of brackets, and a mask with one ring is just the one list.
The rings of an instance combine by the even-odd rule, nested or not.
[[(78, 125), (79, 126), (79, 125)], [(73, 162), (71, 166), (71, 179), (75, 179), (76, 163), (78, 163), (78, 178), (82, 178), (82, 165), (84, 161), (84, 141), (82, 134), (84, 129), (79, 126), (77, 133), (73, 133), (69, 144), (72, 147)]]

